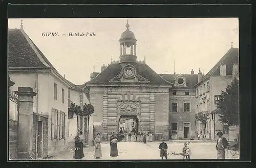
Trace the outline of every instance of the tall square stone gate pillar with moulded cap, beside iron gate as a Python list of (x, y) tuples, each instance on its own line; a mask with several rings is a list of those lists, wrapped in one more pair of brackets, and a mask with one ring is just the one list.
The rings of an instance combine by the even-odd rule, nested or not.
[(33, 97), (37, 94), (30, 87), (18, 87), (18, 159), (28, 159), (33, 140)]

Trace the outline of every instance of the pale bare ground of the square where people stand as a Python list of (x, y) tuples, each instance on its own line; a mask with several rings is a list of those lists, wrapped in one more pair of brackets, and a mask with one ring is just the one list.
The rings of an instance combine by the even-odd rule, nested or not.
[[(187, 141), (184, 141), (187, 142)], [(83, 148), (84, 158), (83, 160), (156, 160), (160, 158), (160, 150), (158, 149), (160, 142), (148, 142), (146, 144), (142, 142), (118, 142), (118, 157), (112, 158), (110, 156), (110, 145), (109, 143), (101, 143), (102, 158), (94, 158), (94, 146)], [(183, 142), (168, 143), (168, 159), (183, 159), (182, 153)], [(215, 149), (216, 144), (212, 142), (202, 142), (202, 143), (190, 143), (191, 158), (190, 159), (216, 159), (217, 151)], [(58, 153), (48, 160), (74, 160), (74, 151), (68, 149)], [(232, 156), (231, 154), (226, 154), (226, 159), (239, 159), (239, 155)]]

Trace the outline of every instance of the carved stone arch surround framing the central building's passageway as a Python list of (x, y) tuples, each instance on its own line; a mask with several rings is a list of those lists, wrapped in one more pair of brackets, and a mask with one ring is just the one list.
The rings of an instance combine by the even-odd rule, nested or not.
[(137, 131), (140, 132), (140, 106), (134, 101), (119, 101), (117, 108), (117, 132), (119, 131), (120, 118), (135, 118)]

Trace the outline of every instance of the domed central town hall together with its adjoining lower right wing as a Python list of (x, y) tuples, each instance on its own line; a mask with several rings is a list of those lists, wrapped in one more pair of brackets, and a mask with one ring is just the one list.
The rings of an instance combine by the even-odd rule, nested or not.
[[(121, 34), (119, 61), (93, 72), (82, 88), (90, 91), (95, 107), (94, 134), (103, 141), (119, 131), (120, 118), (133, 118), (137, 132), (151, 132), (160, 138), (195, 136), (195, 89), (198, 75), (157, 74), (144, 61), (137, 61), (135, 34)], [(142, 47), (142, 46), (140, 46)]]

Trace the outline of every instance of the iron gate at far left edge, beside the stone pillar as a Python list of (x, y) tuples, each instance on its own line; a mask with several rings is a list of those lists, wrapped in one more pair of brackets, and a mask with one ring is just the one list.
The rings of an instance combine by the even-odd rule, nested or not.
[(18, 149), (18, 96), (9, 92), (9, 159), (17, 159)]

